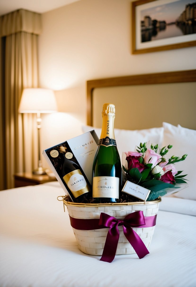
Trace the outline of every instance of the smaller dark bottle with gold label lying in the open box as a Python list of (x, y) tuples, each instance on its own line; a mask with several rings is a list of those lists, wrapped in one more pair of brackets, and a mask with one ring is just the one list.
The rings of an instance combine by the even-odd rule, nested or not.
[(80, 167), (77, 163), (71, 160), (73, 154), (71, 152), (66, 152), (66, 148), (64, 146), (59, 147), (59, 153), (62, 158), (62, 180), (64, 180), (70, 190), (70, 196), (72, 199), (78, 199), (79, 196), (82, 197), (85, 193), (90, 193), (90, 188), (84, 175), (80, 171)]

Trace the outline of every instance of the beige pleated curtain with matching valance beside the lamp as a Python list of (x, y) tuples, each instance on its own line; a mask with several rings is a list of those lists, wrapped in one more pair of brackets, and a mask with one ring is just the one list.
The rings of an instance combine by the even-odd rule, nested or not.
[(14, 187), (13, 174), (38, 165), (36, 118), (19, 114), (23, 88), (38, 86), (41, 15), (20, 9), (0, 17), (0, 190)]

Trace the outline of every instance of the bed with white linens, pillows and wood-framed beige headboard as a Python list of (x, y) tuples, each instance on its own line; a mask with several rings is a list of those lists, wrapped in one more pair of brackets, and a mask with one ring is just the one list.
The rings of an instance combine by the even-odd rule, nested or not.
[[(1, 287), (196, 286), (195, 91), (196, 70), (87, 81), (88, 123), (82, 132), (93, 128), (99, 136), (103, 101), (113, 100), (119, 153), (134, 149), (140, 141), (173, 144), (174, 154), (191, 155), (179, 163), (189, 175), (189, 187), (162, 198), (148, 255), (142, 259), (137, 254), (116, 255), (112, 263), (78, 249), (68, 212), (57, 200), (64, 195), (57, 181), (1, 191)], [(160, 103), (165, 97), (170, 104), (180, 102), (177, 113), (172, 109), (173, 119), (159, 110), (152, 122), (151, 110), (151, 116), (141, 120), (138, 113), (149, 111), (142, 99), (146, 92), (148, 102)], [(139, 104), (137, 115), (130, 115), (130, 109), (125, 112), (125, 106), (138, 106), (138, 99), (145, 104)], [(165, 101), (161, 106), (170, 105)]]

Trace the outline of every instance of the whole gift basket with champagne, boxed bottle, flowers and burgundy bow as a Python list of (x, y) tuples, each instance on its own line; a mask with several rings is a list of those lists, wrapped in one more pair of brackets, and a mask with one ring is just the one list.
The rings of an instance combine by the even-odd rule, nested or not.
[[(67, 191), (58, 200), (67, 207), (79, 249), (107, 262), (120, 254), (147, 255), (161, 197), (188, 186), (186, 175), (174, 166), (187, 154), (167, 159), (172, 145), (140, 143), (135, 151), (123, 152), (121, 164), (114, 112), (113, 104), (103, 105), (99, 141), (91, 131), (45, 152)], [(98, 146), (96, 152), (92, 144)]]

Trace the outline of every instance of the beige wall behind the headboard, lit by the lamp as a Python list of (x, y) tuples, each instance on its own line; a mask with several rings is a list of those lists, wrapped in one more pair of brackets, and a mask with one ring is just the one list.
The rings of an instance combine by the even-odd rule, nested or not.
[(196, 68), (195, 47), (131, 54), (130, 0), (81, 0), (44, 13), (42, 23), (39, 85), (56, 91), (62, 112), (43, 116), (42, 148), (81, 133), (88, 79)]

